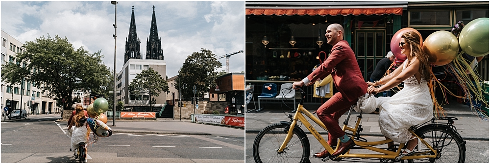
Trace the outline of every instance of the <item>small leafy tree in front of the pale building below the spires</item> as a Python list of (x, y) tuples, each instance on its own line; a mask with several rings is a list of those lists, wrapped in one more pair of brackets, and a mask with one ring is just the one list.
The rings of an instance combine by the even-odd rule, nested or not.
[(140, 93), (148, 94), (150, 99), (150, 107), (156, 103), (151, 99), (151, 96), (158, 96), (162, 92), (169, 93), (169, 84), (167, 80), (158, 74), (157, 71), (149, 68), (136, 74), (133, 81), (128, 86), (128, 91), (132, 95), (140, 95)]

